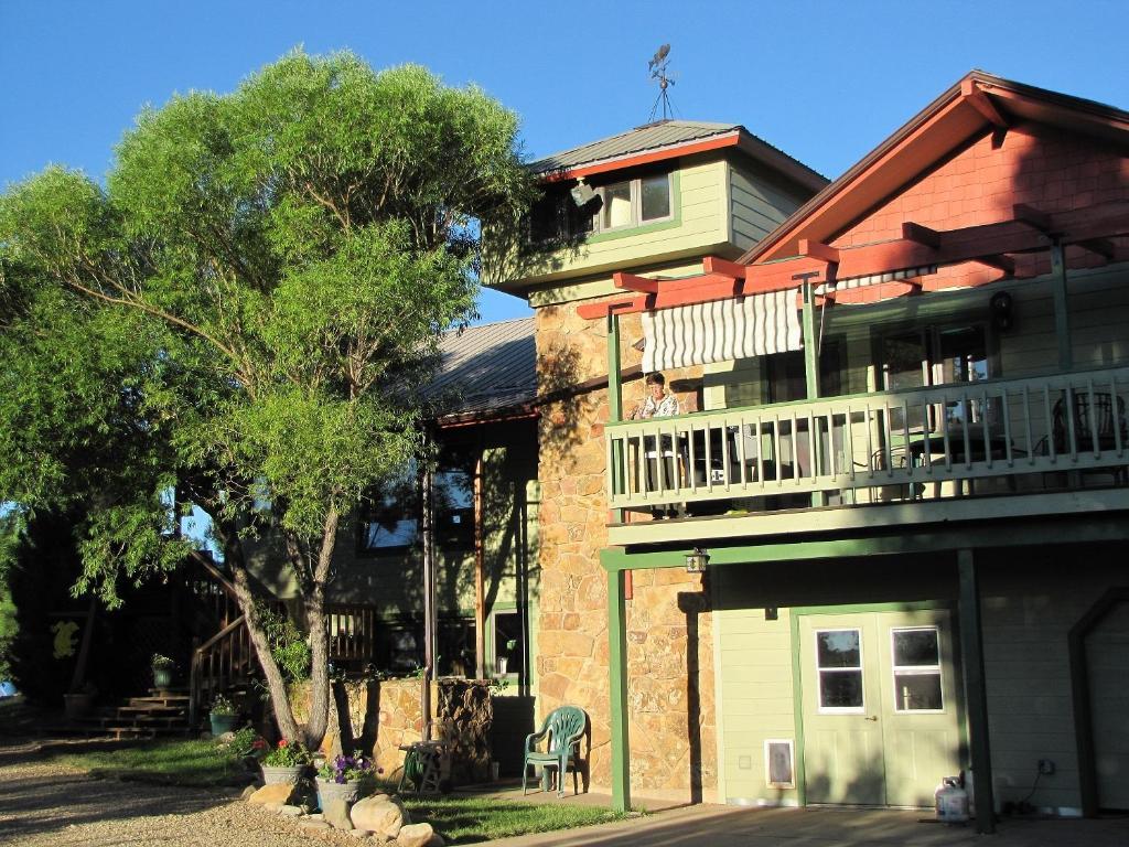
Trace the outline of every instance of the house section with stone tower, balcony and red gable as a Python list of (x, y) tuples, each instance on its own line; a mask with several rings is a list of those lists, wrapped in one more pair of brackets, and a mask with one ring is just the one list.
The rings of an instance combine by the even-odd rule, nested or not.
[[(590, 386), (540, 422), (539, 711), (616, 807), (1129, 809), (1127, 150), (973, 71), (826, 185), (680, 121), (534, 166), (493, 283)], [(693, 411), (624, 420), (645, 368)]]

